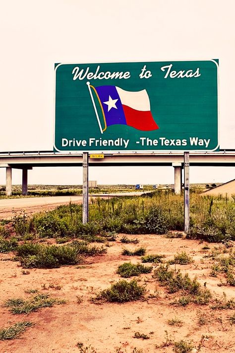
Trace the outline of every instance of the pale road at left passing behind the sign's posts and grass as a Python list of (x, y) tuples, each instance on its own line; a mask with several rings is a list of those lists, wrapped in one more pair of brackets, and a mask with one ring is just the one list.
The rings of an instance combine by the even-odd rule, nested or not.
[[(109, 198), (114, 196), (137, 196), (143, 195), (146, 192), (130, 192), (116, 194), (96, 194), (89, 196), (89, 199), (102, 197)], [(52, 210), (59, 205), (66, 205), (69, 202), (81, 204), (82, 196), (48, 196), (48, 197), (32, 197), (22, 199), (3, 199), (0, 200), (0, 219), (11, 218), (14, 212), (20, 213), (35, 213), (43, 210)]]

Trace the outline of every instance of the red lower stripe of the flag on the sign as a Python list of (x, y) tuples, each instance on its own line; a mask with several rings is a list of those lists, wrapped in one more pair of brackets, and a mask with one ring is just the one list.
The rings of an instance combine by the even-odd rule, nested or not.
[(153, 119), (150, 110), (135, 110), (133, 108), (128, 107), (127, 105), (122, 105), (122, 108), (126, 119), (126, 125), (132, 126), (132, 128), (142, 131), (151, 131), (159, 129)]

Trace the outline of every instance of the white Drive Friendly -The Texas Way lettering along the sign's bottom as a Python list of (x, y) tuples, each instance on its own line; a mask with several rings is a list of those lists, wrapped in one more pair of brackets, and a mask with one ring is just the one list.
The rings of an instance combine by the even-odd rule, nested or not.
[[(137, 146), (203, 146), (208, 147), (211, 139), (199, 139), (198, 137), (189, 137), (188, 139), (166, 139), (165, 137), (160, 137), (158, 139), (149, 139), (146, 137), (141, 137), (139, 140), (135, 141)], [(102, 138), (89, 138), (88, 140), (68, 140), (65, 138), (61, 139), (62, 147), (112, 147), (118, 146), (127, 148), (130, 140), (125, 140), (123, 138), (117, 138), (116, 140), (105, 140)]]

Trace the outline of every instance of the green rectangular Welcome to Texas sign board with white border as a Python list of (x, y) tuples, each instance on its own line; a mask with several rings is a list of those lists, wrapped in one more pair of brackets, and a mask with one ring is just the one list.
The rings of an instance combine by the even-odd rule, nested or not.
[(218, 60), (56, 64), (55, 151), (216, 150)]

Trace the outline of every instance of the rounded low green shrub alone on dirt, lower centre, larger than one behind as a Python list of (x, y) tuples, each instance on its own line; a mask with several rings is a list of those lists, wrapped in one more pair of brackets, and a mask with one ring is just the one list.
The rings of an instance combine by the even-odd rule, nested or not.
[(120, 280), (111, 285), (110, 288), (102, 290), (93, 299), (94, 302), (109, 301), (124, 303), (127, 301), (139, 300), (144, 297), (146, 289), (135, 280), (127, 282)]

